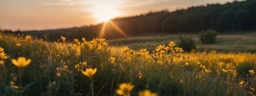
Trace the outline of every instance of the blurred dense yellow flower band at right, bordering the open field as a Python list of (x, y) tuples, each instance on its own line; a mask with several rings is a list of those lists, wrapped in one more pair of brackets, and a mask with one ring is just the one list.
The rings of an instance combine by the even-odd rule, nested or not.
[[(256, 62), (256, 54), (255, 53), (217, 53), (215, 50), (211, 50), (207, 52), (190, 52), (184, 53), (184, 55), (189, 56), (189, 60), (192, 62), (200, 61), (204, 64), (207, 64), (209, 68), (215, 68), (215, 64), (219, 64), (220, 67), (232, 67), (241, 68), (245, 66), (245, 64), (253, 64)], [(250, 66), (250, 65), (246, 65)]]

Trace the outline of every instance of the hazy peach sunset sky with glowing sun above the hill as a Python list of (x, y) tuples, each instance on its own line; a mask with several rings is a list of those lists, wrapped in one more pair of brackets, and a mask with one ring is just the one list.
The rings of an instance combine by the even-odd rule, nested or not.
[(0, 28), (44, 30), (233, 0), (0, 0)]

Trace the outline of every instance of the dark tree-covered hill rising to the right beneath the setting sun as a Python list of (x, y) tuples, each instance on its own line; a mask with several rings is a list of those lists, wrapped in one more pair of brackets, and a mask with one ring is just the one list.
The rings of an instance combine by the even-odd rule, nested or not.
[[(149, 12), (138, 16), (115, 18), (111, 20), (128, 36), (141, 36), (156, 33), (197, 33), (213, 29), (218, 32), (244, 32), (256, 29), (256, 1), (234, 1), (226, 4), (207, 4), (168, 12)], [(42, 37), (48, 32), (51, 38), (92, 39), (99, 36), (102, 24), (80, 28), (57, 30), (26, 31), (25, 34)], [(123, 36), (109, 22), (106, 22), (104, 38), (122, 38)]]

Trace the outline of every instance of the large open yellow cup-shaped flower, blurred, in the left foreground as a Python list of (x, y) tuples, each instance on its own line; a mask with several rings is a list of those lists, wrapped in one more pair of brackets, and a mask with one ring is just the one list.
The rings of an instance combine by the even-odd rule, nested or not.
[(19, 68), (24, 68), (31, 63), (31, 59), (26, 60), (25, 57), (19, 57), (18, 60), (12, 59), (12, 63)]

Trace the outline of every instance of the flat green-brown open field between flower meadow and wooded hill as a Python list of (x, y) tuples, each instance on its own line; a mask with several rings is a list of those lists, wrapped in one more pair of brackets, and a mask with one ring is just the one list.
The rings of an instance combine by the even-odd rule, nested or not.
[(202, 44), (198, 34), (167, 34), (156, 36), (137, 36), (109, 40), (110, 44), (128, 46), (135, 49), (137, 45), (150, 48), (152, 44), (168, 44), (170, 41), (179, 42), (179, 36), (190, 36), (201, 50), (217, 50), (218, 52), (256, 52), (256, 32), (243, 34), (219, 34), (216, 44)]

